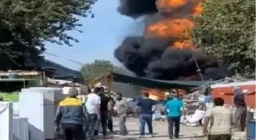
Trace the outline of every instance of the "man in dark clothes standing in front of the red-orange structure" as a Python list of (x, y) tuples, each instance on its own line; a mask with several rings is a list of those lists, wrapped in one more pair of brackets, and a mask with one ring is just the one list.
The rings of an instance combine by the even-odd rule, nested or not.
[(235, 105), (234, 123), (235, 128), (239, 131), (245, 131), (247, 107), (245, 103), (245, 95), (242, 89), (236, 86), (233, 89), (234, 97), (233, 104)]

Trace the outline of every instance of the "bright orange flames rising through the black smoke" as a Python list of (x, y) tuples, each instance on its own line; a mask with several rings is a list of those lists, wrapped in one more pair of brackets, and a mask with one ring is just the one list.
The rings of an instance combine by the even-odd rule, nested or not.
[[(186, 16), (177, 16), (171, 18), (163, 18), (158, 20), (158, 22), (152, 23), (146, 27), (145, 35), (146, 36), (158, 36), (160, 38), (171, 38), (177, 39), (170, 47), (174, 48), (188, 48), (191, 50), (196, 50), (193, 43), (190, 40), (190, 30), (194, 26), (194, 21), (191, 17), (198, 16), (203, 12), (203, 8), (200, 5), (202, 0), (158, 0), (156, 2), (158, 11), (162, 13), (171, 13), (175, 11), (175, 15), (184, 15), (184, 11), (178, 11), (187, 5), (188, 2), (191, 2), (194, 6), (193, 8), (185, 11)], [(158, 96), (163, 98), (163, 92), (150, 89), (148, 90), (150, 95)], [(178, 92), (181, 92), (178, 90)], [(184, 91), (182, 91), (183, 93)]]

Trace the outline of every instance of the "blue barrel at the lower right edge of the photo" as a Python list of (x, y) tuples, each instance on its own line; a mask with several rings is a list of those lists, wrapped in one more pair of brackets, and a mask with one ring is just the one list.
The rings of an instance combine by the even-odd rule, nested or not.
[(246, 136), (248, 140), (256, 139), (256, 120), (247, 120)]

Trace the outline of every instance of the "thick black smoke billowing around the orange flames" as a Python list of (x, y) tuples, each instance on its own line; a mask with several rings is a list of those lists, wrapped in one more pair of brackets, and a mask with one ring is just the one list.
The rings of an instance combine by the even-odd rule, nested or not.
[[(191, 9), (191, 6), (184, 8), (187, 7)], [(142, 15), (150, 15), (152, 19), (166, 17), (166, 14), (158, 13), (155, 0), (120, 0), (118, 11), (133, 18)], [(175, 12), (169, 13), (170, 16), (175, 16)], [(203, 79), (221, 79), (230, 75), (227, 66), (219, 64), (215, 58), (200, 51), (171, 47), (174, 41), (171, 38), (129, 36), (115, 50), (114, 56), (137, 76), (150, 79), (187, 79), (190, 76), (198, 80), (201, 76)]]

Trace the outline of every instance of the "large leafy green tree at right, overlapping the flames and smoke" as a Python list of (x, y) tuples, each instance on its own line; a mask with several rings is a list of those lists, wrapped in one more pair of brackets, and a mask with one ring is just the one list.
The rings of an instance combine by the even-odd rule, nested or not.
[(256, 67), (256, 1), (206, 0), (195, 18), (192, 39), (206, 54), (231, 64), (240, 73)]

